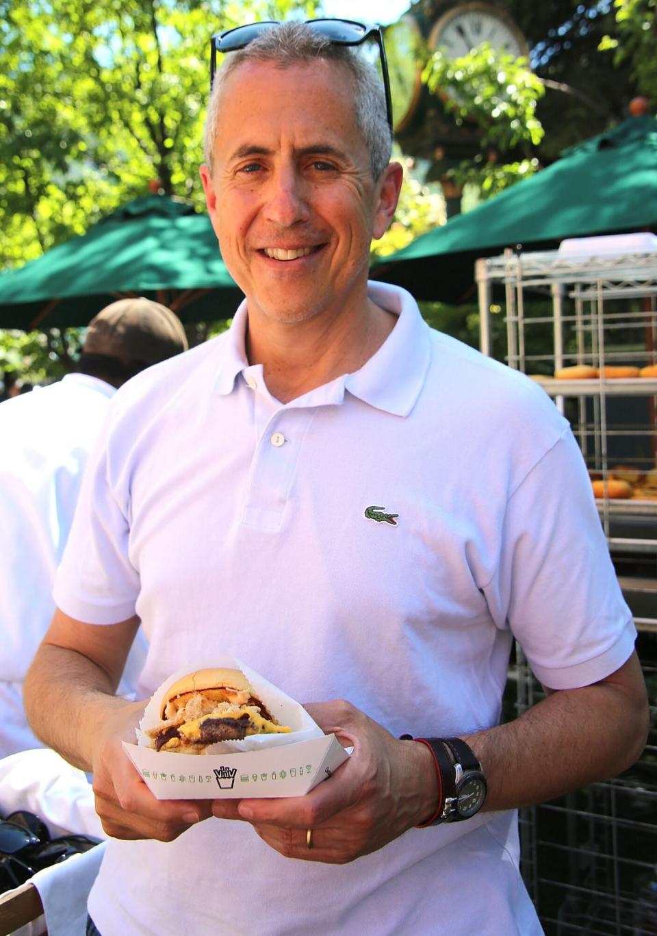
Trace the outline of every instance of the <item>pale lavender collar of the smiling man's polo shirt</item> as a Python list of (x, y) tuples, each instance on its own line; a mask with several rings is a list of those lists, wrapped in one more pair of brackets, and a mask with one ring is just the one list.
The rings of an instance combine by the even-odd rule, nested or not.
[[(430, 329), (419, 313), (416, 300), (405, 289), (387, 283), (368, 284), (368, 295), (388, 312), (398, 316), (397, 324), (376, 354), (355, 373), (337, 377), (324, 388), (299, 398), (314, 405), (343, 402), (344, 390), (358, 400), (395, 416), (408, 416), (424, 386), (431, 358)], [(246, 359), (246, 300), (242, 300), (226, 335), (224, 357), (215, 383), (225, 396), (235, 386), (235, 378), (249, 367)], [(292, 401), (289, 405), (299, 404)]]

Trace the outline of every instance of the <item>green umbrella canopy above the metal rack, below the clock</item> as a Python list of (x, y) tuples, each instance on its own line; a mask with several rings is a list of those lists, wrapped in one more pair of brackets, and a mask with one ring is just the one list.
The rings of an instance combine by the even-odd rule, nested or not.
[(547, 250), (567, 237), (657, 228), (657, 120), (631, 117), (372, 267), (416, 298), (468, 301), (474, 261), (505, 247)]

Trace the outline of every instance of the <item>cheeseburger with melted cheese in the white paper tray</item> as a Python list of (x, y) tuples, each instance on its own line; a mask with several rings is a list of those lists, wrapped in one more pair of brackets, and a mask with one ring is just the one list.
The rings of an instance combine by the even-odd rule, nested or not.
[(278, 724), (239, 669), (198, 669), (168, 687), (162, 722), (146, 731), (155, 751), (200, 754), (209, 744), (289, 732)]

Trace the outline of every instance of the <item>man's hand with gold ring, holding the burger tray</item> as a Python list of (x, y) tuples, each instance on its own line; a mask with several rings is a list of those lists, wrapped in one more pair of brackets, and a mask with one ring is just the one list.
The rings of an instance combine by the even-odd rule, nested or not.
[[(307, 705), (314, 721), (354, 753), (305, 797), (214, 800), (213, 813), (253, 824), (281, 855), (344, 864), (367, 855), (428, 819), (438, 783), (423, 744), (395, 739), (348, 702)], [(236, 814), (237, 813), (237, 814)], [(306, 833), (313, 830), (313, 847)]]

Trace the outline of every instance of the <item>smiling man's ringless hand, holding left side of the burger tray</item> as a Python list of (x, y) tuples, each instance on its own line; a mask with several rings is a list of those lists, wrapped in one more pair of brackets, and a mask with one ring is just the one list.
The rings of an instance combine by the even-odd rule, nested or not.
[(207, 799), (156, 799), (143, 782), (122, 740), (135, 740), (145, 702), (126, 702), (110, 714), (93, 755), (95, 811), (115, 839), (177, 839), (212, 815)]

